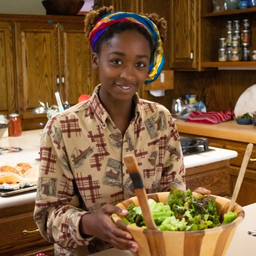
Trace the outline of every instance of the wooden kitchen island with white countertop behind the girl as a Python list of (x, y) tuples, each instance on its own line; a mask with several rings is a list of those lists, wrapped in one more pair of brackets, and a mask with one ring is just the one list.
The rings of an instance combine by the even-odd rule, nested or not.
[[(20, 137), (3, 138), (0, 147), (23, 148), (19, 153), (0, 156), (0, 162), (25, 162), (38, 164), (40, 130), (25, 131)], [(184, 157), (187, 188), (192, 190), (204, 186), (214, 195), (230, 193), (230, 159), (237, 152), (223, 148)], [(35, 224), (33, 211), (36, 192), (26, 192), (12, 196), (0, 196), (0, 255), (34, 256), (45, 253), (54, 256), (53, 245), (45, 241)]]

